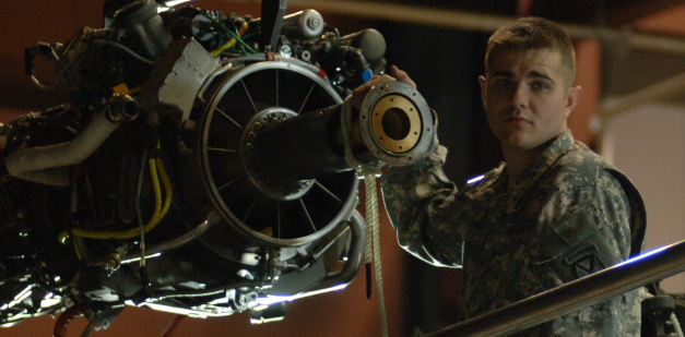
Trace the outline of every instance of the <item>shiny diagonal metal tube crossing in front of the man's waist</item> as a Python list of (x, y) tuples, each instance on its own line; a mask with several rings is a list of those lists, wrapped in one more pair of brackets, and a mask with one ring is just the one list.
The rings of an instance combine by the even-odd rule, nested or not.
[(426, 335), (506, 336), (685, 272), (685, 241)]

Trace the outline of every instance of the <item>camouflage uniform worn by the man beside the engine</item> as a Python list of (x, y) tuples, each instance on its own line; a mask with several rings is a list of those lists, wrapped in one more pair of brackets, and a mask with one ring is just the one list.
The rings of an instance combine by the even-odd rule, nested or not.
[[(437, 141), (436, 141), (437, 144)], [(517, 179), (503, 163), (459, 192), (440, 166), (447, 149), (382, 179), (400, 245), (438, 266), (462, 267), (460, 318), (591, 274), (641, 252), (645, 207), (629, 180), (570, 131)], [(639, 336), (637, 290), (520, 333)]]

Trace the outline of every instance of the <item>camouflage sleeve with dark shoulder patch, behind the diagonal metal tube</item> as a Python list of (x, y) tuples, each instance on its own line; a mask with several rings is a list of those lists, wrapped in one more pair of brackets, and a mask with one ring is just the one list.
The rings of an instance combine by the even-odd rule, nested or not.
[[(618, 181), (600, 171), (590, 201), (564, 217), (556, 226), (565, 233), (568, 248), (550, 263), (559, 282), (597, 273), (628, 258), (630, 253), (630, 207)], [(572, 242), (577, 240), (578, 242)], [(574, 322), (580, 322), (580, 324)], [(633, 290), (580, 312), (555, 320), (555, 332), (568, 336), (639, 336), (640, 303)], [(580, 328), (580, 332), (569, 329)]]

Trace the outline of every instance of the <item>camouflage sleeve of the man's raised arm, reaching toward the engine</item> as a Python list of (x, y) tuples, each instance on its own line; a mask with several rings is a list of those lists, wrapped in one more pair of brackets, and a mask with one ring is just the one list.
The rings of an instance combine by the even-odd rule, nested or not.
[(391, 168), (381, 190), (400, 246), (433, 265), (461, 267), (463, 240), (450, 219), (457, 189), (442, 172), (446, 156), (436, 146), (420, 163)]

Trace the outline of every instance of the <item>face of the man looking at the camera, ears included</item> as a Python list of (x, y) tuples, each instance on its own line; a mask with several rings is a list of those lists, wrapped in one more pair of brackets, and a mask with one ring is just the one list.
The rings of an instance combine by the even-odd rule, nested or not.
[(539, 149), (566, 131), (580, 87), (567, 88), (564, 75), (557, 50), (510, 50), (496, 56), (486, 77), (480, 77), (481, 93), (487, 121), (505, 154)]

